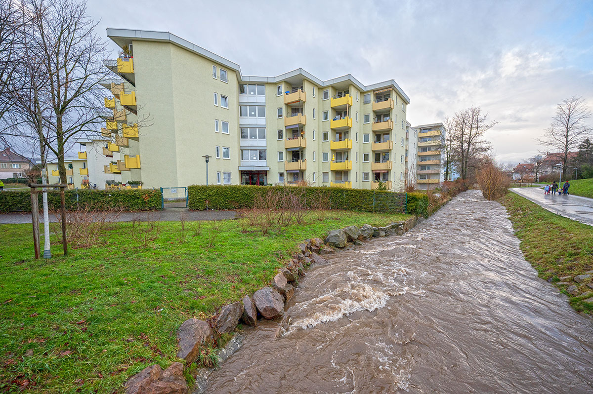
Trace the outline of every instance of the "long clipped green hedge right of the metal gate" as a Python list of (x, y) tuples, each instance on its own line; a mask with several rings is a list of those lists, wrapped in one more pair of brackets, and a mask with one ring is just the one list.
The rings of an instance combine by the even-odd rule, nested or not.
[(319, 193), (325, 195), (328, 209), (346, 209), (363, 212), (403, 213), (406, 206), (405, 193), (390, 191), (343, 189), (338, 187), (292, 187), (292, 186), (252, 186), (252, 185), (192, 185), (188, 188), (189, 209), (246, 209), (253, 207), (256, 195), (269, 190), (277, 193), (302, 191), (305, 205), (315, 208), (315, 198)]

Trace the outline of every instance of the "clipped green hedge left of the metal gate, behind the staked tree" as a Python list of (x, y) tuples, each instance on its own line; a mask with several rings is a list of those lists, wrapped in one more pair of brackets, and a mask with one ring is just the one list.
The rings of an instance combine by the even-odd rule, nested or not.
[[(66, 209), (88, 207), (94, 210), (123, 209), (125, 211), (160, 210), (162, 195), (160, 190), (66, 190)], [(50, 191), (47, 194), (50, 210), (60, 209), (60, 194)], [(42, 193), (39, 193), (39, 206), (42, 206)], [(30, 212), (30, 191), (5, 190), (0, 192), (0, 212)]]

